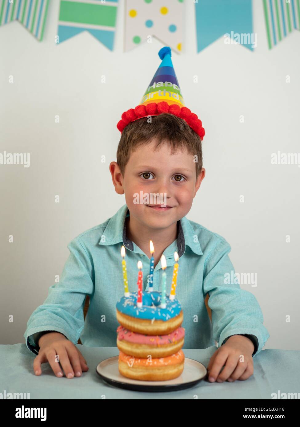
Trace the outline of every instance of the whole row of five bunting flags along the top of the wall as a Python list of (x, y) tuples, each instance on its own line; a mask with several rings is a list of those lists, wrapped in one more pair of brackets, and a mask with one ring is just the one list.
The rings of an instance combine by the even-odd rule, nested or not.
[[(252, 0), (193, 0), (197, 52), (224, 38), (253, 50)], [(300, 30), (300, 0), (262, 0), (267, 44), (272, 49)], [(0, 26), (18, 20), (42, 41), (50, 0), (0, 0)], [(119, 0), (60, 0), (58, 42), (88, 31), (113, 50)], [(184, 0), (125, 0), (124, 51), (157, 38), (182, 51)]]

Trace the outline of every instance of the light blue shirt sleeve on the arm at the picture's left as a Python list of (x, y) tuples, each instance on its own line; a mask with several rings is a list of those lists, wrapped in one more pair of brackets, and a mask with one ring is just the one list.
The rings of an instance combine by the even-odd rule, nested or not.
[(84, 327), (83, 305), (86, 295), (94, 292), (95, 273), (92, 257), (75, 237), (59, 283), (50, 286), (44, 303), (31, 314), (24, 333), (27, 348), (38, 354), (38, 339), (45, 331), (60, 332), (77, 344)]

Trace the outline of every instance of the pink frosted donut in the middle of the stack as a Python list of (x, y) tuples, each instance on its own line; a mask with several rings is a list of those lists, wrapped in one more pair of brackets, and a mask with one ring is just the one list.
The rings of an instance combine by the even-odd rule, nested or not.
[(177, 353), (184, 344), (184, 328), (179, 327), (166, 335), (145, 335), (132, 332), (119, 325), (117, 347), (125, 354), (147, 358), (167, 357)]

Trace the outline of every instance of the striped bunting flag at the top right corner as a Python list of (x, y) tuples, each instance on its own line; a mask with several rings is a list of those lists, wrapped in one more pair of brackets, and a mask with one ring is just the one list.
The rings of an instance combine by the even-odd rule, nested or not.
[(300, 29), (300, 0), (263, 0), (269, 49)]

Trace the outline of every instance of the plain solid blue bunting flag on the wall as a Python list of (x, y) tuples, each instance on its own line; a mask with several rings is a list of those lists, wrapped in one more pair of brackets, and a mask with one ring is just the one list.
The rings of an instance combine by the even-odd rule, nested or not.
[(252, 0), (196, 0), (197, 52), (226, 35), (227, 44), (256, 46)]

